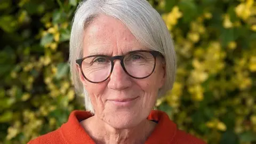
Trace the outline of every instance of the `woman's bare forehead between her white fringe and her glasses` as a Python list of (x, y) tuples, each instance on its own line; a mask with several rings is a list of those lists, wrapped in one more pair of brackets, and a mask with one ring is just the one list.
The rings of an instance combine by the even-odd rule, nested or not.
[(83, 44), (84, 56), (124, 54), (143, 49), (122, 21), (107, 15), (100, 15), (85, 28)]

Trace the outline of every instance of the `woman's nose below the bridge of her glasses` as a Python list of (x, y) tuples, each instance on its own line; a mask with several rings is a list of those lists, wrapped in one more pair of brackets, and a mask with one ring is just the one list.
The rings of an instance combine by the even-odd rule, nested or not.
[(110, 75), (109, 89), (121, 91), (132, 85), (131, 77), (127, 75), (119, 60), (115, 60), (112, 74)]

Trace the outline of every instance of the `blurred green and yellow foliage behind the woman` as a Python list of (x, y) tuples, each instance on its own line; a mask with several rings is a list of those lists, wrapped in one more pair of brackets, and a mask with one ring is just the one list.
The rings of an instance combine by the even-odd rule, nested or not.
[[(256, 143), (256, 2), (149, 2), (178, 55), (173, 90), (156, 109), (207, 143)], [(84, 109), (68, 64), (77, 4), (0, 1), (0, 143), (27, 143)]]

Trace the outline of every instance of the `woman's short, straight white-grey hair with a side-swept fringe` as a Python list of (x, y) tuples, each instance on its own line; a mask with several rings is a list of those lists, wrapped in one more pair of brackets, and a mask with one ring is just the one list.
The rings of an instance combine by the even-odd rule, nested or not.
[(84, 94), (86, 110), (94, 113), (89, 94), (79, 79), (75, 61), (83, 57), (84, 29), (100, 14), (121, 20), (141, 44), (164, 55), (166, 81), (158, 92), (158, 98), (171, 90), (175, 79), (176, 56), (172, 38), (161, 15), (146, 0), (82, 1), (77, 7), (71, 28), (69, 62), (71, 78), (76, 92)]

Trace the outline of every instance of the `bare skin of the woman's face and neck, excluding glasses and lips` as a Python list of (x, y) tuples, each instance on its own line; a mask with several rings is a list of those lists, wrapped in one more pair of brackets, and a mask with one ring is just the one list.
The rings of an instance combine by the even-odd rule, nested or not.
[[(93, 54), (124, 55), (134, 50), (149, 50), (141, 45), (120, 21), (100, 15), (84, 31), (83, 56)], [(157, 57), (153, 74), (135, 79), (115, 60), (114, 70), (107, 81), (94, 84), (81, 82), (89, 92), (95, 115), (81, 122), (96, 143), (143, 143), (156, 123), (147, 120), (157, 99), (158, 89), (165, 82), (165, 65)], [(78, 67), (77, 67), (78, 68)], [(133, 99), (129, 105), (115, 105), (115, 100)]]

